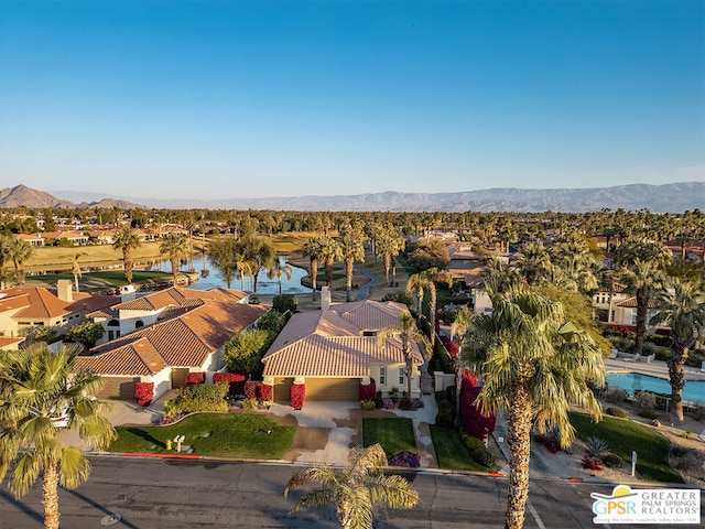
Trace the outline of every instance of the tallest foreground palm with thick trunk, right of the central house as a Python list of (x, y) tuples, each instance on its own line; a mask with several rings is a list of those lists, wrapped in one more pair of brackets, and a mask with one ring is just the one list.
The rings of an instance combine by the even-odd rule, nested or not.
[(600, 406), (588, 381), (603, 385), (603, 354), (585, 333), (564, 321), (563, 307), (523, 289), (492, 295), (491, 315), (478, 314), (464, 338), (462, 363), (484, 380), (482, 413), (508, 410), (509, 493), (505, 527), (523, 527), (529, 496), (532, 427), (557, 428), (567, 446), (575, 431), (571, 403), (595, 420)]

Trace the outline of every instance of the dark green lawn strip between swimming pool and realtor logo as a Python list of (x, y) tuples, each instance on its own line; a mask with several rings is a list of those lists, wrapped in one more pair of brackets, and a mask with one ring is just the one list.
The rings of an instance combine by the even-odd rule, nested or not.
[(633, 422), (604, 417), (595, 424), (585, 413), (571, 413), (571, 423), (577, 430), (577, 436), (604, 439), (609, 451), (625, 461), (631, 461), (631, 451), (636, 451), (637, 472), (644, 479), (657, 482), (683, 483), (681, 476), (669, 466), (671, 442), (659, 432)]

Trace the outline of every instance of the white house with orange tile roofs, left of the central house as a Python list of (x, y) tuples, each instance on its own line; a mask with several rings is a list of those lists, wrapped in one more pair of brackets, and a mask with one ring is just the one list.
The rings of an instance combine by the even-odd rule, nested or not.
[(137, 326), (141, 321), (143, 325), (94, 347), (91, 356), (77, 359), (78, 369), (101, 376), (105, 387), (99, 398), (131, 400), (139, 381), (153, 382), (156, 398), (185, 386), (191, 371), (223, 369), (225, 344), (267, 312), (262, 306), (241, 303), (226, 289), (203, 295), (184, 292), (189, 290), (167, 289), (112, 307), (117, 317), (124, 316), (119, 323)]

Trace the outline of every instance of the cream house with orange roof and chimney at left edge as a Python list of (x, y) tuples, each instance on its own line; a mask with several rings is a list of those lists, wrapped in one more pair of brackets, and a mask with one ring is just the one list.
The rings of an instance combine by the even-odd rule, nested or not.
[(32, 328), (53, 327), (63, 334), (86, 321), (86, 315), (119, 301), (113, 295), (74, 292), (69, 280), (59, 280), (56, 290), (14, 287), (0, 290), (0, 336), (24, 337)]

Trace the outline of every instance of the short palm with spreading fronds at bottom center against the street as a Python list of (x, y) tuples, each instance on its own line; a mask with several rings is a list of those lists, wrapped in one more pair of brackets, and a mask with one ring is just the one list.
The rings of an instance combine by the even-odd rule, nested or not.
[(419, 505), (419, 493), (402, 476), (386, 476), (387, 455), (379, 444), (350, 449), (341, 468), (325, 466), (305, 468), (286, 483), (284, 496), (308, 484), (318, 484), (305, 493), (290, 514), (302, 506), (330, 507), (338, 512), (343, 528), (372, 529), (372, 509), (388, 505), (393, 509), (411, 509)]

